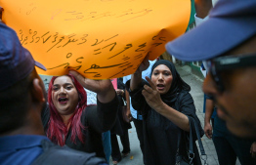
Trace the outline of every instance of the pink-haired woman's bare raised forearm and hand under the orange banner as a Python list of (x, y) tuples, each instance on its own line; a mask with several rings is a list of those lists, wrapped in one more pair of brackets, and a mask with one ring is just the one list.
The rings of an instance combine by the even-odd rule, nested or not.
[(115, 97), (115, 90), (110, 80), (89, 79), (74, 70), (70, 70), (69, 73), (72, 74), (84, 88), (97, 93), (98, 100), (101, 103), (108, 103)]

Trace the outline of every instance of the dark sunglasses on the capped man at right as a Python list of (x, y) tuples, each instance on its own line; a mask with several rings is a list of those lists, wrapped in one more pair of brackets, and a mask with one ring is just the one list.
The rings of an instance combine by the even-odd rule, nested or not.
[(224, 92), (225, 87), (221, 78), (224, 70), (233, 70), (240, 67), (256, 66), (256, 53), (240, 56), (226, 56), (206, 61), (217, 87), (220, 92)]

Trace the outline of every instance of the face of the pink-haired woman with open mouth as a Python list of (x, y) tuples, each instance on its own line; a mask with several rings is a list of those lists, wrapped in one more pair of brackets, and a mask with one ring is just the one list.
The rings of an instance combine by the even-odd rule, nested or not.
[(52, 100), (61, 115), (73, 113), (78, 104), (78, 93), (70, 77), (64, 75), (55, 79)]

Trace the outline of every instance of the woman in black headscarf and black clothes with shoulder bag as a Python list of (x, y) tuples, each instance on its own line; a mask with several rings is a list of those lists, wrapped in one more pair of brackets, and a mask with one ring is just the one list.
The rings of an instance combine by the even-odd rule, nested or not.
[[(180, 139), (180, 151), (186, 152), (190, 120), (195, 122), (201, 136), (203, 130), (195, 114), (191, 87), (182, 80), (174, 64), (160, 60), (154, 63), (148, 82), (142, 79), (147, 59), (132, 75), (126, 88), (130, 91), (133, 107), (142, 110), (145, 135), (146, 165), (174, 165)], [(196, 140), (195, 130), (192, 136)], [(179, 138), (180, 137), (180, 138)], [(201, 164), (193, 142), (193, 164)]]

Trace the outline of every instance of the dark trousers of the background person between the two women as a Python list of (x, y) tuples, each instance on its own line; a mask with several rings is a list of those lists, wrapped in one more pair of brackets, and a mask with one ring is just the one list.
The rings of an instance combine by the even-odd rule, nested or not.
[[(129, 135), (128, 135), (128, 129), (123, 130), (123, 135), (120, 136), (121, 143), (123, 145), (122, 153), (130, 152), (130, 142), (129, 142)], [(112, 147), (112, 160), (113, 161), (120, 161), (122, 159), (122, 155), (119, 149), (119, 144), (117, 141), (116, 134), (111, 134), (111, 147)]]

